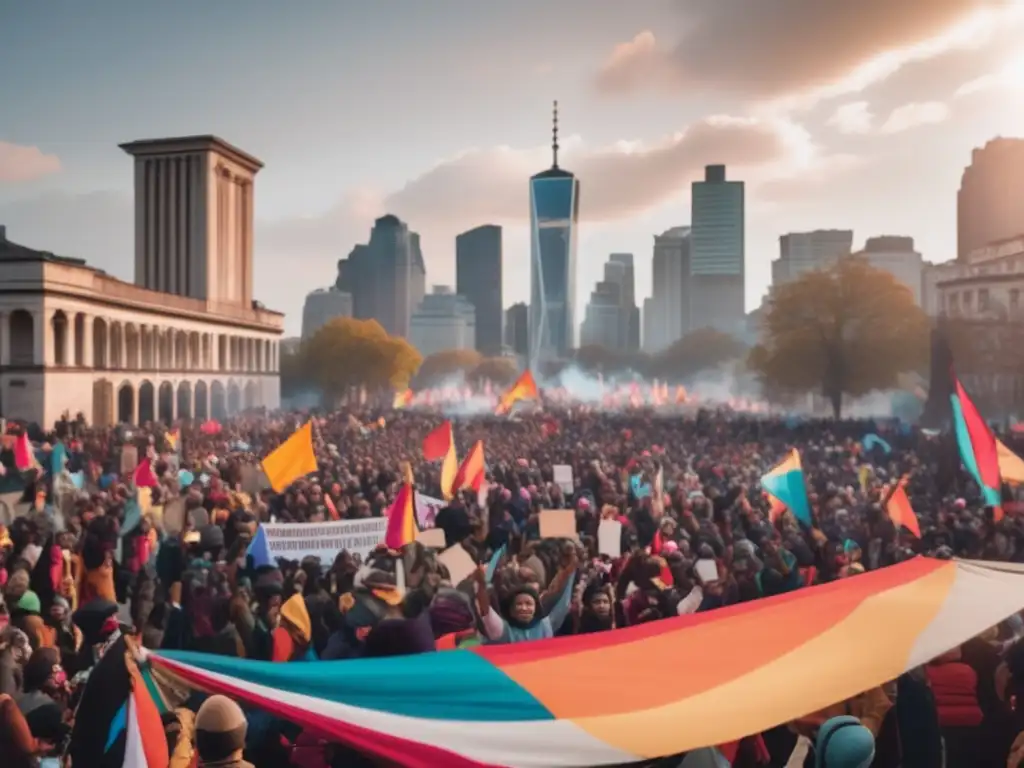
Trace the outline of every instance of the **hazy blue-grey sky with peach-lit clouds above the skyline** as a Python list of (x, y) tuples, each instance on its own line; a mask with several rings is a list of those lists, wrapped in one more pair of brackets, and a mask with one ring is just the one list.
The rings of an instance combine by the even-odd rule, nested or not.
[(0, 0), (0, 224), (133, 279), (118, 144), (213, 133), (265, 163), (255, 293), (299, 332), (309, 291), (393, 213), (428, 285), (455, 236), (504, 227), (529, 285), (528, 177), (580, 178), (578, 314), (611, 253), (651, 291), (690, 182), (746, 182), (746, 304), (778, 238), (851, 228), (955, 255), (973, 147), (1024, 135), (1024, 0)]

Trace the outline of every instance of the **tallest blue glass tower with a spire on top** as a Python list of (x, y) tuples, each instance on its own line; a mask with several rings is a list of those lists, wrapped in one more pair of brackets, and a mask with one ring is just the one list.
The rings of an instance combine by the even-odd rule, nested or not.
[(558, 167), (558, 102), (551, 168), (529, 179), (529, 362), (560, 359), (573, 346), (580, 182)]

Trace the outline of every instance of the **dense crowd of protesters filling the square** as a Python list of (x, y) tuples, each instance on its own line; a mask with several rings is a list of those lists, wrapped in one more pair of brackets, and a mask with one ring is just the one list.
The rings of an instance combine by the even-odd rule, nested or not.
[[(316, 472), (284, 493), (253, 487), (260, 458), (310, 418)], [(454, 420), (463, 451), (483, 441), (487, 477), (485, 495), (460, 494), (434, 521), (446, 546), (479, 563), (460, 584), (419, 543), (367, 557), (338, 552), (332, 562), (255, 566), (247, 556), (261, 522), (385, 515), (407, 465), (420, 492), (441, 497), (440, 464), (425, 462), (420, 446), (442, 419), (435, 409), (362, 407), (245, 414), (213, 426), (8, 426), (0, 496), (20, 493), (25, 511), (0, 530), (0, 765), (70, 759), (92, 768), (82, 757), (89, 738), (79, 705), (120, 637), (148, 648), (315, 663), (612, 632), (856, 578), (919, 554), (1024, 562), (1013, 490), (1005, 489), (1007, 515), (996, 522), (944, 435), (898, 422), (583, 406)], [(29, 471), (15, 460), (23, 430), (38, 459)], [(884, 439), (866, 445), (866, 434)], [(1016, 447), (1014, 435), (1004, 442)], [(57, 445), (67, 453), (62, 470), (47, 460)], [(772, 520), (760, 485), (794, 447), (813, 526), (788, 514)], [(126, 451), (137, 457), (128, 464)], [(136, 520), (140, 461), (151, 462), (157, 484)], [(555, 481), (556, 465), (572, 468), (571, 488)], [(66, 474), (82, 479), (69, 486)], [(884, 510), (883, 495), (903, 477), (920, 538)], [(650, 493), (659, 484), (664, 498)], [(159, 511), (179, 498), (183, 515), (171, 526)], [(540, 513), (549, 509), (574, 510), (575, 539), (541, 538)], [(602, 519), (622, 523), (617, 558), (599, 552)], [(709, 561), (710, 571), (697, 567)], [(778, 768), (1017, 768), (1021, 637), (1024, 621), (1012, 616), (884, 687), (750, 734), (727, 758)], [(629, 685), (629, 670), (623, 680)], [(171, 766), (376, 764), (229, 698), (179, 698), (163, 715)], [(123, 743), (110, 752), (119, 749), (123, 756)], [(725, 759), (708, 750), (651, 765)]]

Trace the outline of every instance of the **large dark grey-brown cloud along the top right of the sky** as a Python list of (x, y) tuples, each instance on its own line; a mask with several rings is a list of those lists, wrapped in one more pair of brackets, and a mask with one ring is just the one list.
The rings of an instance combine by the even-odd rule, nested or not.
[(1024, 12), (1019, 0), (689, 0), (679, 7), (675, 44), (662, 46), (646, 30), (615, 46), (597, 74), (600, 90), (706, 89), (813, 101), (980, 45)]

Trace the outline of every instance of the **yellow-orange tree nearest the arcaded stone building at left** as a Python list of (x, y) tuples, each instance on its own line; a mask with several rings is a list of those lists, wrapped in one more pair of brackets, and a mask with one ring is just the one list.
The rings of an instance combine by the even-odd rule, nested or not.
[(328, 397), (351, 387), (403, 389), (423, 358), (377, 321), (336, 317), (303, 343), (307, 376)]

